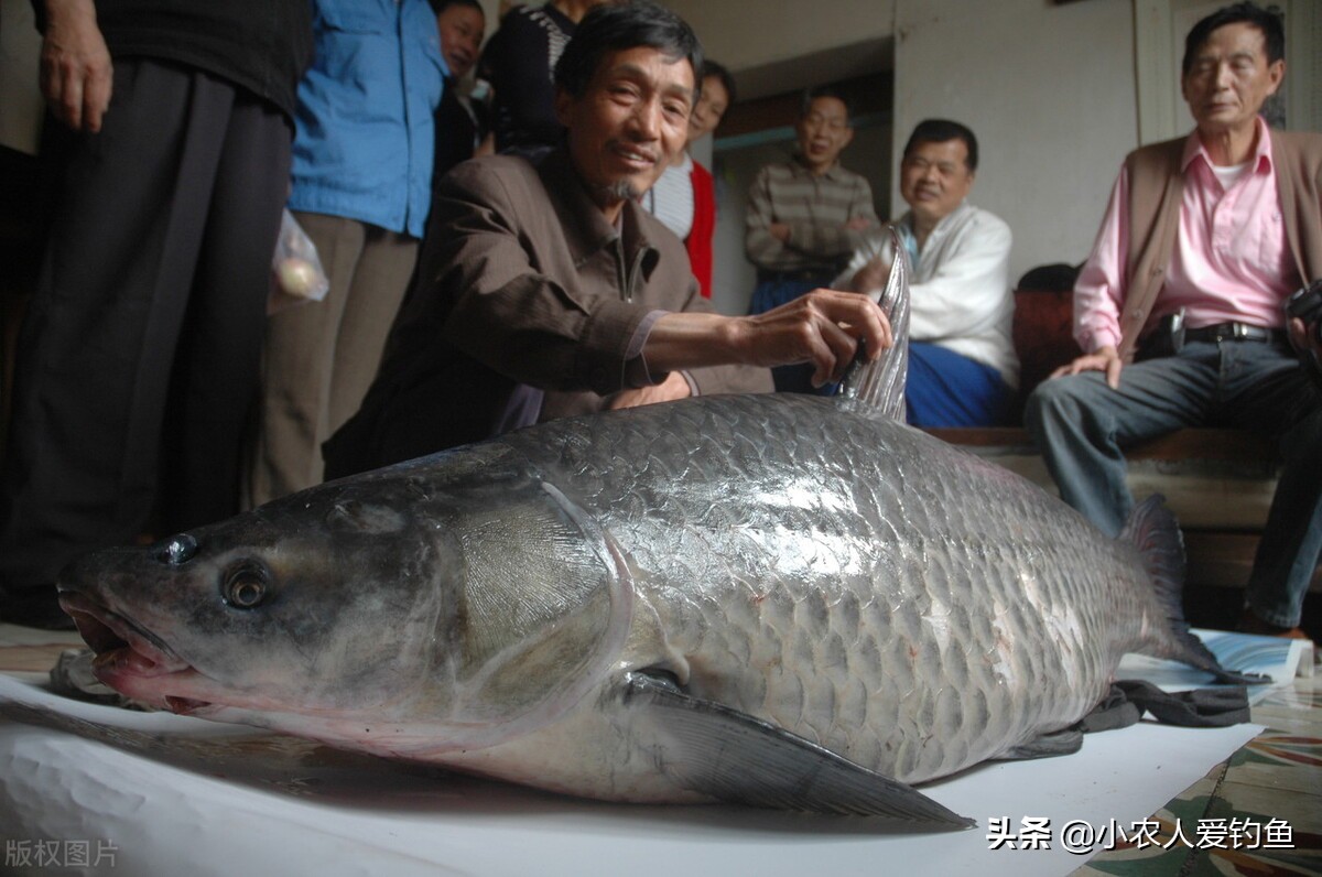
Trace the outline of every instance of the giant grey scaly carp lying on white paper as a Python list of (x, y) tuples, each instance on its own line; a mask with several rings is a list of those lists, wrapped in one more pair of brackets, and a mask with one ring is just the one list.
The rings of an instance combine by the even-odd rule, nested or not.
[(180, 713), (591, 798), (966, 825), (908, 784), (1069, 726), (1125, 652), (1215, 669), (1154, 587), (1169, 525), (1108, 538), (857, 398), (694, 398), (100, 552), (59, 593), (99, 677)]

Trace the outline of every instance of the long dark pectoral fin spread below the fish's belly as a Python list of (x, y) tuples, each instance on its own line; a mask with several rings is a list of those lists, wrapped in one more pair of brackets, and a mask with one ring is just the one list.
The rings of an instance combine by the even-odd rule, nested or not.
[(906, 827), (976, 823), (904, 783), (769, 722), (698, 700), (670, 680), (629, 673), (624, 705), (661, 741), (657, 761), (685, 788), (755, 807), (880, 816)]

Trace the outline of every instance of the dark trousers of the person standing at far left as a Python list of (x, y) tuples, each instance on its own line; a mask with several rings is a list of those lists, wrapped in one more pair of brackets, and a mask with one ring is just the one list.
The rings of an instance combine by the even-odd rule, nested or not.
[(34, 589), (53, 603), (67, 561), (149, 521), (238, 511), (291, 135), (222, 79), (115, 62), (102, 132), (73, 135), (19, 340), (0, 618)]

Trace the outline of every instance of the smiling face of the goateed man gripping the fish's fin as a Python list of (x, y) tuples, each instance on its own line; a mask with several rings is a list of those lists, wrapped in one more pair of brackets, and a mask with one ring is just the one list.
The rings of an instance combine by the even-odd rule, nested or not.
[(683, 149), (693, 110), (687, 58), (648, 46), (602, 58), (583, 94), (557, 94), (570, 157), (609, 221), (641, 197)]

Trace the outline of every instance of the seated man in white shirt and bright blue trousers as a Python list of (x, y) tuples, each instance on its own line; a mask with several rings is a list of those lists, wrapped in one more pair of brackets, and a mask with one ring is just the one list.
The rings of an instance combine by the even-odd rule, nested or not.
[[(895, 228), (914, 266), (904, 405), (915, 426), (1003, 423), (1018, 385), (1010, 226), (968, 202), (977, 168), (978, 140), (958, 122), (920, 122), (904, 144), (910, 209)], [(887, 238), (861, 247), (836, 287), (878, 295), (891, 270)]]

